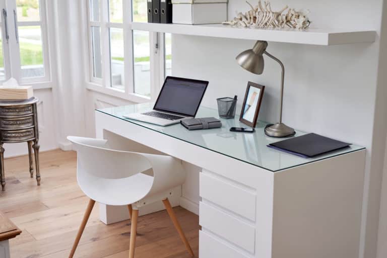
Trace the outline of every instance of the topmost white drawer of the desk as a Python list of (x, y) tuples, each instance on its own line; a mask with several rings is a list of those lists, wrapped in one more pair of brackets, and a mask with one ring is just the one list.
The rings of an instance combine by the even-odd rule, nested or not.
[(255, 221), (255, 195), (238, 186), (201, 173), (200, 196), (249, 220)]

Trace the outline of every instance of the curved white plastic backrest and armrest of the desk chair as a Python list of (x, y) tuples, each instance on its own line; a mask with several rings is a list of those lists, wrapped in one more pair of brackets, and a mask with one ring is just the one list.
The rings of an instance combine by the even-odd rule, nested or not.
[[(68, 139), (73, 142), (74, 149), (78, 153), (78, 177), (80, 174), (92, 175), (105, 180), (99, 180), (100, 183), (106, 182), (103, 184), (109, 185), (111, 180), (130, 178), (143, 172), (149, 175), (148, 170), (152, 169), (152, 186), (143, 189), (142, 197), (170, 190), (185, 181), (185, 170), (181, 160), (177, 158), (110, 149), (107, 140), (103, 139), (75, 136), (69, 136)], [(90, 180), (94, 179), (90, 178)], [(125, 186), (127, 187), (130, 186)]]

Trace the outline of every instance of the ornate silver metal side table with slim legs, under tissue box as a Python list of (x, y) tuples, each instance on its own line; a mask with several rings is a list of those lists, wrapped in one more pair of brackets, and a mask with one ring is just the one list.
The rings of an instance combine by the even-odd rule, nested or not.
[(0, 182), (5, 190), (4, 143), (27, 142), (31, 178), (34, 177), (32, 149), (35, 153), (36, 181), (40, 186), (39, 131), (36, 103), (33, 97), (24, 101), (0, 101)]

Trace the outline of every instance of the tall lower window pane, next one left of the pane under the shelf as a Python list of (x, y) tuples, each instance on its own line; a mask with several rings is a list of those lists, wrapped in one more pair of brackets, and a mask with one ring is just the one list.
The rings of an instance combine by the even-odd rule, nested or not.
[(124, 90), (123, 30), (110, 28), (111, 87)]

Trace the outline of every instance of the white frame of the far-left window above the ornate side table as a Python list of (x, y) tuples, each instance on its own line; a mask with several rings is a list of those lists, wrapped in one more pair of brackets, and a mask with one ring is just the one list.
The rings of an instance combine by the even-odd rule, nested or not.
[[(4, 2), (3, 2), (4, 1)], [(47, 8), (46, 0), (39, 0), (39, 14), (40, 21), (34, 22), (19, 22), (15, 24), (16, 12), (16, 0), (3, 0), (1, 4), (5, 6), (1, 7), (2, 12), (2, 38), (3, 38), (3, 55), (4, 66), (6, 73), (6, 80), (10, 77), (16, 78), (20, 84), (40, 84), (35, 89), (51, 88), (49, 85), (51, 82), (51, 69), (50, 69), (50, 55), (48, 46), (48, 31), (47, 31)], [(9, 40), (6, 40), (6, 30), (4, 28), (4, 16), (3, 9), (7, 11), (7, 25)], [(17, 17), (16, 17), (17, 19)], [(17, 41), (16, 29), (19, 26), (40, 26), (41, 28), (41, 40), (42, 40), (42, 54), (44, 65), (44, 76), (40, 77), (21, 77), (21, 65), (20, 65), (20, 46)], [(35, 86), (35, 85), (34, 85)]]

